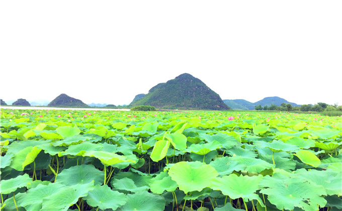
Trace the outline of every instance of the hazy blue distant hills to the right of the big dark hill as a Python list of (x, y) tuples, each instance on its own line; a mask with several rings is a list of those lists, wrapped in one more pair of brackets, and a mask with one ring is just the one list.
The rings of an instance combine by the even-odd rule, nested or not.
[(299, 107), (299, 104), (294, 102), (289, 102), (284, 98), (273, 96), (273, 97), (265, 97), (257, 102), (249, 102), (244, 99), (224, 99), (224, 103), (226, 103), (230, 108), (234, 110), (254, 110), (255, 106), (261, 105), (264, 107), (265, 105), (271, 106), (272, 104), (280, 106), (282, 103), (290, 103), (293, 107)]

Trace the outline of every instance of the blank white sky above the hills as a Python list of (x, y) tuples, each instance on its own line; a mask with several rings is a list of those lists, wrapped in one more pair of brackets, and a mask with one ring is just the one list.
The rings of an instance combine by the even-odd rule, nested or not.
[(0, 98), (129, 104), (192, 74), (222, 99), (342, 105), (342, 1), (1, 1)]

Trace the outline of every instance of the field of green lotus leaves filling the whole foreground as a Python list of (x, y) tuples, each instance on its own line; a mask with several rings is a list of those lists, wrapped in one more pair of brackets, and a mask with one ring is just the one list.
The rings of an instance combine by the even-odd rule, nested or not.
[(342, 117), (1, 110), (3, 210), (340, 210)]

